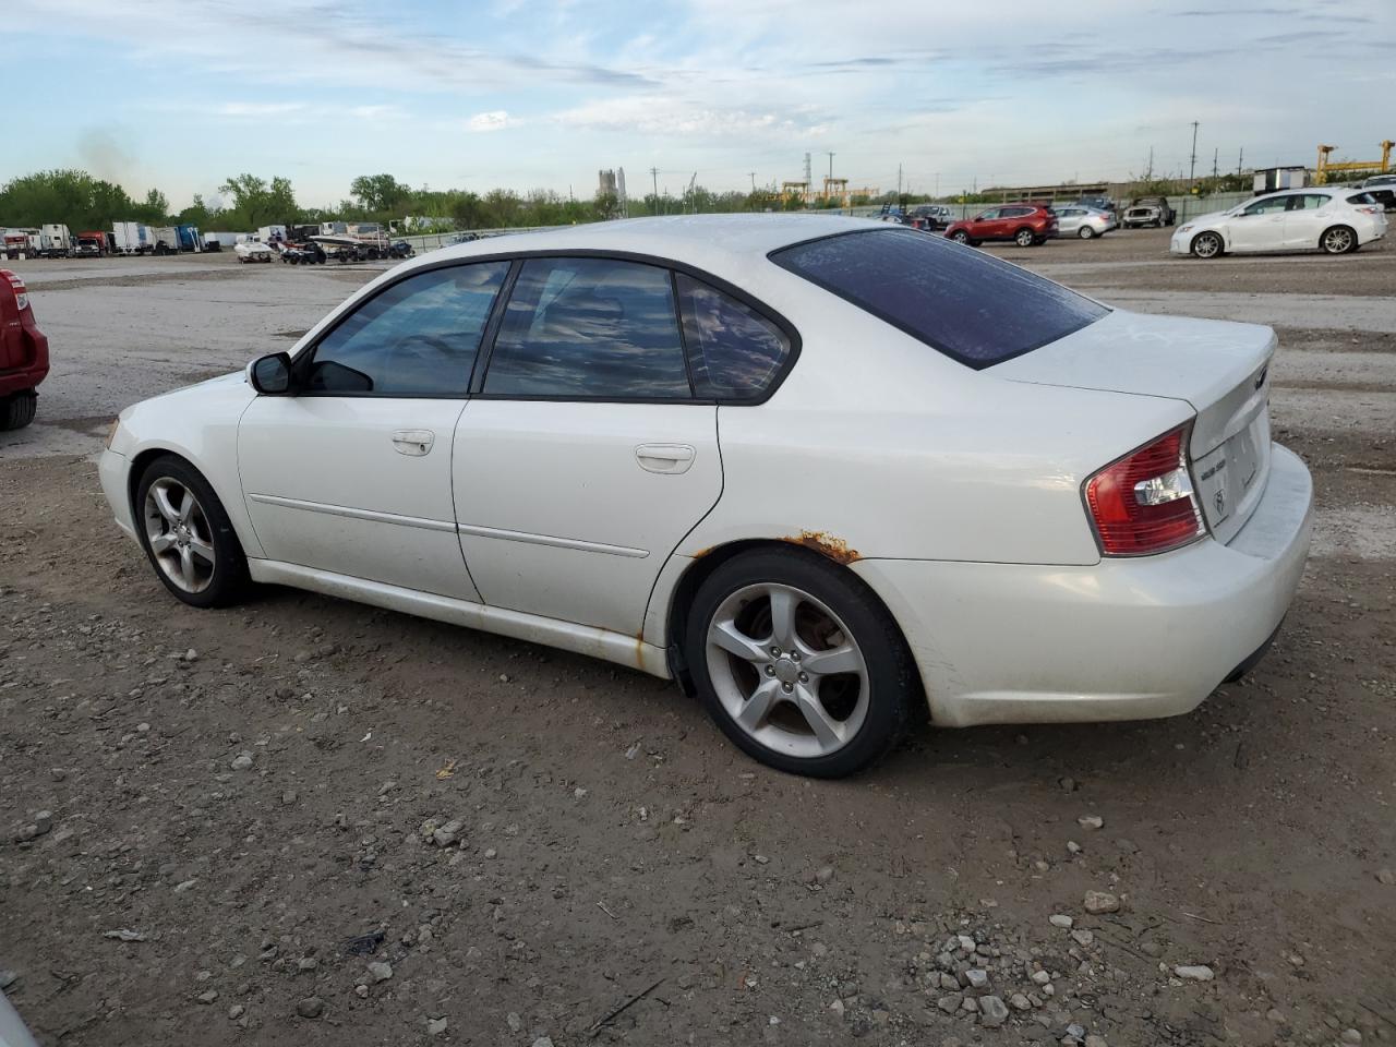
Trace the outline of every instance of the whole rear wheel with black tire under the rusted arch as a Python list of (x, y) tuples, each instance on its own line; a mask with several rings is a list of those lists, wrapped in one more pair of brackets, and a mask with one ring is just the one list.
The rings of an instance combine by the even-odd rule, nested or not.
[[(843, 778), (906, 729), (919, 681), (896, 623), (861, 579), (818, 554), (764, 549), (729, 560), (698, 586), (687, 623), (699, 698), (762, 764)], [(835, 651), (829, 670), (808, 669)]]

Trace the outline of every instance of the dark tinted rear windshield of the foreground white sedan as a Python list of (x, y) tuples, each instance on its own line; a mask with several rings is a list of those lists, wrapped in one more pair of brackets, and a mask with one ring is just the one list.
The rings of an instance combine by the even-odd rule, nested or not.
[(973, 247), (909, 229), (829, 236), (771, 260), (974, 369), (1055, 342), (1110, 311)]

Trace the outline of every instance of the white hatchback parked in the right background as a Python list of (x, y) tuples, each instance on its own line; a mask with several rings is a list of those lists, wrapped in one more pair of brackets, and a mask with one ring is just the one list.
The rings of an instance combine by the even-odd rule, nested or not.
[(1173, 235), (1168, 250), (1198, 258), (1220, 258), (1231, 251), (1347, 254), (1385, 235), (1386, 214), (1365, 193), (1314, 186), (1189, 218)]

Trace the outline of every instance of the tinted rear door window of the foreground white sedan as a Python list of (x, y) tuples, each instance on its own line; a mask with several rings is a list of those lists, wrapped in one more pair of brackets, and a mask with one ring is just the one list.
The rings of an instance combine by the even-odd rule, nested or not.
[(669, 271), (610, 258), (524, 262), (484, 376), (505, 396), (690, 396)]

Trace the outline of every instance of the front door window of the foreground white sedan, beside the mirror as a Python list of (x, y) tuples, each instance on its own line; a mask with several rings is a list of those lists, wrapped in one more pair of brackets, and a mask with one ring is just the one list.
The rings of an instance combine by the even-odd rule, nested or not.
[(508, 269), (452, 265), (376, 295), (315, 346), (310, 391), (463, 396)]

